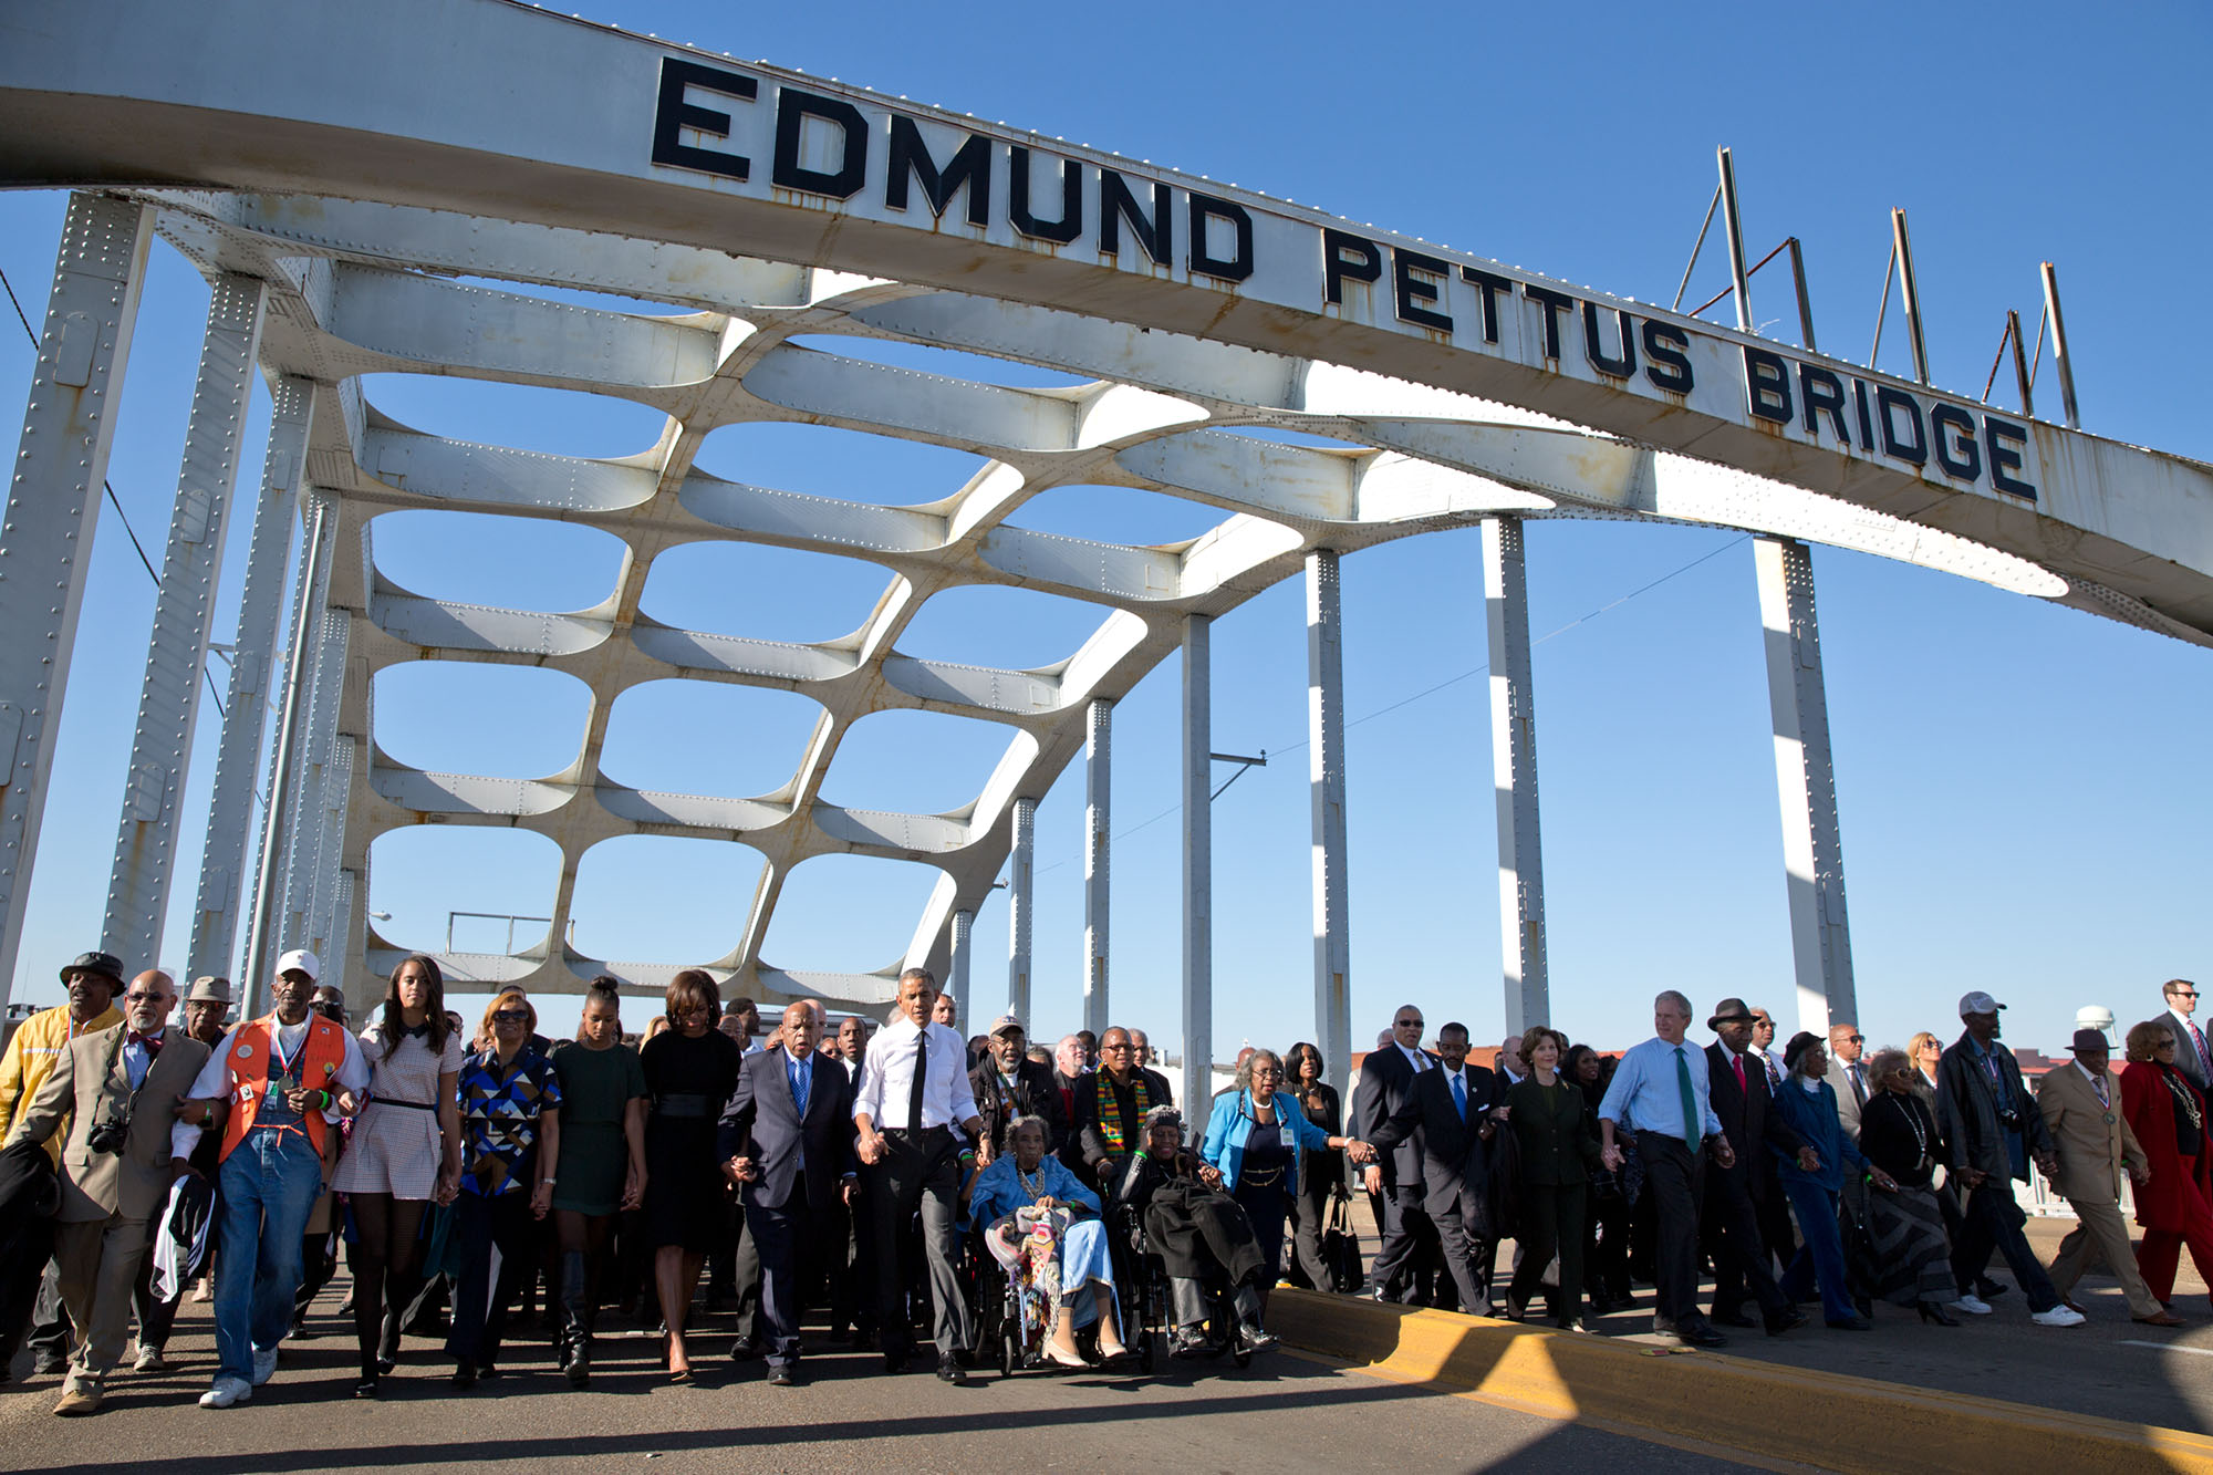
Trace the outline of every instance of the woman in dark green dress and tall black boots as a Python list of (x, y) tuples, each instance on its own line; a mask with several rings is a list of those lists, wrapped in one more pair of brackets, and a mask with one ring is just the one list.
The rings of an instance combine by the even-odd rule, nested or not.
[(562, 1342), (569, 1386), (591, 1378), (591, 1322), (600, 1307), (598, 1267), (622, 1209), (646, 1196), (646, 1072), (622, 1043), (622, 999), (600, 974), (584, 990), (573, 1041), (553, 1050), (562, 1090), (560, 1183), (553, 1227), (560, 1234)]

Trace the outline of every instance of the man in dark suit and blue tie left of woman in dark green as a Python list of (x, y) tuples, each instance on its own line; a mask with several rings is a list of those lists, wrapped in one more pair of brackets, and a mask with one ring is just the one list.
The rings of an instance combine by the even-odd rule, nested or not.
[[(1405, 1103), (1370, 1141), (1379, 1154), (1401, 1143), (1419, 1149), (1421, 1211), (1436, 1227), (1461, 1309), (1489, 1316), (1489, 1267), (1498, 1251), (1489, 1211), (1489, 1143), (1498, 1132), (1492, 1107), (1505, 1103), (1505, 1083), (1467, 1063), (1467, 1025), (1438, 1030), (1436, 1050), (1436, 1063), (1412, 1076)], [(1376, 1256), (1379, 1278), (1381, 1260)]]

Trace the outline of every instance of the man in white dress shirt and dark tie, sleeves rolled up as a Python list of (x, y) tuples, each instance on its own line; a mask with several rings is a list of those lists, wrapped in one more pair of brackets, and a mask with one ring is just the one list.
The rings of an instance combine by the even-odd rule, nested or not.
[(901, 1313), (907, 1287), (901, 1280), (898, 1245), (921, 1209), (929, 1298), (936, 1304), (938, 1378), (960, 1384), (967, 1378), (954, 1353), (974, 1342), (974, 1327), (954, 1271), (954, 1220), (960, 1211), (960, 1176), (972, 1161), (989, 1163), (991, 1145), (976, 1141), (983, 1121), (969, 1090), (967, 1043), (929, 1019), (936, 997), (938, 981), (927, 968), (898, 974), (898, 1014), (867, 1043), (852, 1121), (859, 1127), (861, 1163), (867, 1165), (870, 1214), (876, 1225), (883, 1366), (890, 1373), (905, 1371), (912, 1353), (914, 1333)]

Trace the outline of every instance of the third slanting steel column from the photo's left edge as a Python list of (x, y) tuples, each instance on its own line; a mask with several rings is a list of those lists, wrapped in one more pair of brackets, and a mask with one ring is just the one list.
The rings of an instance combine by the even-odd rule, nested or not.
[(246, 591), (230, 651), (230, 698), (224, 740), (215, 753), (208, 837), (199, 853), (199, 906), (193, 912), (193, 952), (186, 968), (190, 977), (210, 972), (228, 977), (237, 959), (239, 906), (246, 901), (241, 877), (254, 826), (268, 689), (277, 675), (283, 560), (292, 547), (292, 505), (308, 458), (312, 414), (314, 381), (279, 379), (272, 394), (268, 456), (261, 463), (261, 503), (254, 507), (252, 543), (246, 549)]

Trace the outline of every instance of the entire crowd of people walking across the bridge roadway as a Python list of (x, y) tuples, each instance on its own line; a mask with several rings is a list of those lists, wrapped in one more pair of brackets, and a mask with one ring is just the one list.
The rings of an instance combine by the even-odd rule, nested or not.
[[(0, 1378), (29, 1335), (60, 1415), (100, 1411), (133, 1324), (133, 1366), (166, 1366), (179, 1302), (210, 1282), (199, 1402), (248, 1402), (341, 1256), (359, 1397), (425, 1329), (456, 1389), (500, 1375), (538, 1287), (571, 1386), (611, 1307), (655, 1322), (671, 1382), (697, 1375), (697, 1316), (735, 1309), (730, 1355), (790, 1386), (808, 1304), (885, 1371), (927, 1333), (938, 1378), (965, 1382), (998, 1316), (983, 1276), (1009, 1358), (1104, 1369), (1137, 1355), (1146, 1276), (1173, 1355), (1272, 1347), (1281, 1276), (1511, 1320), (1542, 1302), (1565, 1331), (1644, 1280), (1653, 1331), (1693, 1347), (1788, 1333), (1806, 1307), (1837, 1331), (1877, 1302), (1950, 1327), (2012, 1289), (2034, 1324), (2071, 1327), (2100, 1262), (2138, 1322), (2180, 1327), (2180, 1251), (2213, 1276), (2213, 1056), (2182, 979), (2127, 1030), (2118, 1076), (2078, 1030), (2036, 1092), (1987, 992), (1959, 1001), (1954, 1043), (1874, 1052), (1852, 1023), (1777, 1050), (1742, 999), (1691, 1043), (1691, 1001), (1662, 992), (1653, 1036), (1618, 1056), (1540, 1025), (1483, 1065), (1463, 1023), (1430, 1036), (1405, 1005), (1350, 1101), (1297, 1043), (1246, 1050), (1182, 1107), (1144, 1032), (1047, 1048), (1009, 1014), (965, 1039), (921, 968), (881, 1028), (799, 999), (766, 1036), (704, 970), (631, 1036), (637, 994), (602, 977), (560, 1043), (518, 988), (474, 1025), (447, 1010), (423, 955), (359, 1032), (308, 952), (235, 1023), (221, 979), (193, 983), (181, 1023), (159, 970), (126, 986), (86, 952), (62, 981), (69, 1001), (0, 1050)], [(2032, 1165), (2076, 1211), (2049, 1265), (2014, 1187)], [(1354, 1192), (1379, 1231), (1365, 1267)]]

